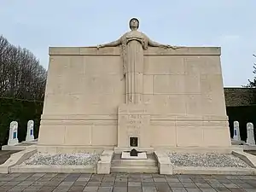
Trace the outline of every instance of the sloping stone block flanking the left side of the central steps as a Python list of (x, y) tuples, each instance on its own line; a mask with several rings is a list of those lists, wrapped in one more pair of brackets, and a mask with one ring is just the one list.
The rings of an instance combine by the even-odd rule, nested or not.
[(109, 174), (111, 169), (111, 161), (113, 158), (113, 150), (104, 150), (101, 158), (97, 163), (97, 174)]

